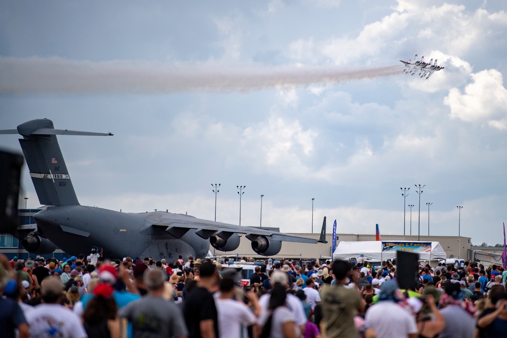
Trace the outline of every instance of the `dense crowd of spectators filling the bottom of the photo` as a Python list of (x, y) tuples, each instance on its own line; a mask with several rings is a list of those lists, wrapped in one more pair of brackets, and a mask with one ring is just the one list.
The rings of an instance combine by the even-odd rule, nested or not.
[[(254, 261), (243, 257), (242, 260)], [(227, 258), (166, 262), (0, 254), (5, 337), (507, 337), (507, 271), (420, 264), (401, 289), (396, 261), (267, 258), (246, 288)]]

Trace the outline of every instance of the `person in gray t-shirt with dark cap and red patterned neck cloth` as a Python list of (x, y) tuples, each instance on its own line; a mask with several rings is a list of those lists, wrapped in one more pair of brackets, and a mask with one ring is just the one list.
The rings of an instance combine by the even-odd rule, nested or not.
[(461, 291), (459, 283), (445, 284), (445, 293), (440, 298), (440, 305), (446, 326), (440, 333), (440, 338), (472, 338), (474, 336), (474, 304), (466, 302), (464, 298), (465, 293)]

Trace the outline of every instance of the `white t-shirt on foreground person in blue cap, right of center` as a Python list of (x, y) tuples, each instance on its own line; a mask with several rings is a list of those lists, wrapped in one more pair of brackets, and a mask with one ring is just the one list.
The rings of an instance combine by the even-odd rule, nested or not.
[(418, 332), (415, 317), (391, 301), (372, 305), (366, 312), (365, 320), (375, 330), (378, 338), (406, 337)]

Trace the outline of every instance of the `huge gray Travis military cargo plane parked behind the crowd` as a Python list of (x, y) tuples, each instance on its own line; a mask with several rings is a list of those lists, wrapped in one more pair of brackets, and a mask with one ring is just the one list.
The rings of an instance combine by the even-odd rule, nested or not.
[[(30, 176), (39, 197), (47, 207), (33, 215), (37, 227), (12, 232), (33, 253), (53, 252), (55, 245), (69, 254), (87, 253), (92, 246), (103, 248), (106, 257), (153, 257), (174, 261), (178, 254), (205, 257), (209, 245), (221, 251), (234, 251), (240, 235), (251, 241), (259, 255), (272, 256), (282, 241), (327, 243), (325, 217), (320, 239), (283, 234), (267, 229), (240, 227), (170, 212), (127, 213), (78, 202), (56, 135), (110, 136), (54, 129), (48, 119), (25, 122), (17, 129), (0, 134), (20, 134), (19, 139)], [(36, 228), (36, 229), (35, 229)], [(34, 231), (33, 231), (34, 230)], [(0, 232), (2, 225), (0, 224)]]

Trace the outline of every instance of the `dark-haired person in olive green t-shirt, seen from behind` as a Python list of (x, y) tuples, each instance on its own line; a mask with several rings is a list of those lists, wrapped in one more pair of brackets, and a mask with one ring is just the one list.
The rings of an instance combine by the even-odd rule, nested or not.
[(345, 287), (346, 280), (353, 274), (349, 262), (335, 260), (332, 265), (336, 283), (321, 290), (321, 333), (329, 337), (356, 338), (354, 315), (363, 311), (363, 299), (357, 288)]

